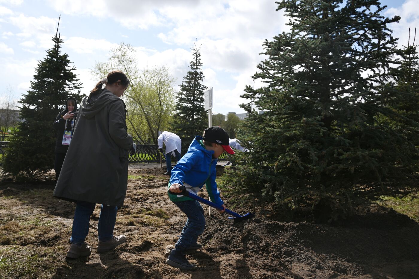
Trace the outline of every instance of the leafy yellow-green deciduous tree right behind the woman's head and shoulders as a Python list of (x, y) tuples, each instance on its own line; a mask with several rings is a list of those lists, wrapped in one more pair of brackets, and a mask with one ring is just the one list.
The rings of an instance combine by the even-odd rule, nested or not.
[(174, 78), (167, 67), (139, 70), (130, 44), (111, 50), (107, 62), (96, 63), (93, 75), (100, 80), (111, 70), (125, 72), (131, 81), (124, 93), (127, 128), (142, 144), (157, 144), (158, 132), (168, 129), (174, 109)]

